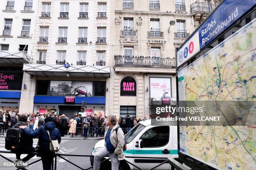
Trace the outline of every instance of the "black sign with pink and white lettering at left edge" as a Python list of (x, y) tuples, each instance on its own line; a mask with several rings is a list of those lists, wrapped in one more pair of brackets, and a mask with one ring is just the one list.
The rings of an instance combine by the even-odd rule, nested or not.
[(22, 73), (1, 73), (0, 90), (21, 90)]

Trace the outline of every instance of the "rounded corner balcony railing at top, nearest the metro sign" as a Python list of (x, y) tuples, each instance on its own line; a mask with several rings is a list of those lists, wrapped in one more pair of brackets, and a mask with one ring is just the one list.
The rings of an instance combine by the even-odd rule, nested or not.
[(196, 14), (196, 13), (211, 13), (212, 10), (216, 7), (214, 4), (210, 3), (192, 3), (190, 5), (190, 11), (191, 14)]

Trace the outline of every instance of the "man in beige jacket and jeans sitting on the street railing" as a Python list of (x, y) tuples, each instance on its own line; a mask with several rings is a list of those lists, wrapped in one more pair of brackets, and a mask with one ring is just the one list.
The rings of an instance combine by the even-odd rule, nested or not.
[(107, 120), (108, 127), (105, 130), (105, 147), (94, 156), (93, 170), (100, 169), (100, 161), (104, 157), (110, 157), (111, 169), (118, 170), (120, 160), (125, 159), (123, 146), (125, 145), (123, 130), (119, 128), (116, 117), (109, 116)]

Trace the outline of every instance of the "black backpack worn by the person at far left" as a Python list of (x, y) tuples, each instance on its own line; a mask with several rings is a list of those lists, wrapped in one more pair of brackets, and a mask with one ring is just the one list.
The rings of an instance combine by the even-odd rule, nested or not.
[(8, 129), (5, 137), (5, 149), (15, 152), (20, 149), (20, 133), (19, 128)]

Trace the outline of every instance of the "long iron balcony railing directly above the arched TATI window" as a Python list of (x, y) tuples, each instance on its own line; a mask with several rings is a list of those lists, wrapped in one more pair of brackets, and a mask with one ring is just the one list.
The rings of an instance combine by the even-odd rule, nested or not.
[(175, 67), (175, 58), (156, 58), (150, 56), (115, 55), (115, 66), (127, 67)]

